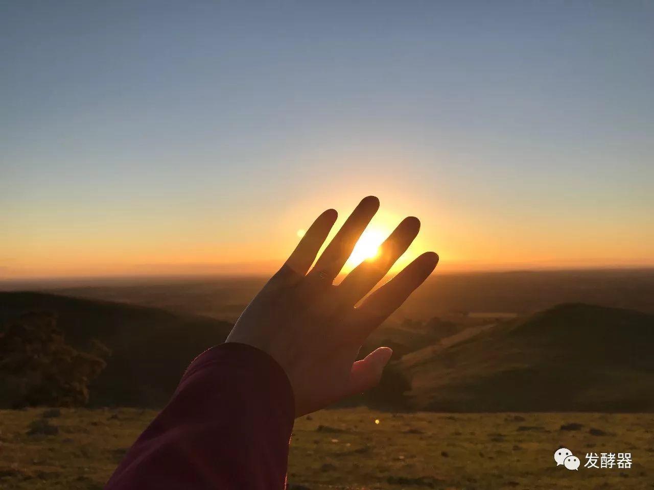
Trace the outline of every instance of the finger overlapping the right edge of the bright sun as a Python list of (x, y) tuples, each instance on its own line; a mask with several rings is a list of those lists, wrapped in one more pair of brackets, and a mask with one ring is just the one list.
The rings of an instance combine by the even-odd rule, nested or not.
[(420, 230), (420, 220), (405, 218), (379, 247), (379, 255), (365, 260), (350, 272), (338, 286), (338, 294), (345, 304), (353, 305), (387, 274), (392, 265), (406, 252)]

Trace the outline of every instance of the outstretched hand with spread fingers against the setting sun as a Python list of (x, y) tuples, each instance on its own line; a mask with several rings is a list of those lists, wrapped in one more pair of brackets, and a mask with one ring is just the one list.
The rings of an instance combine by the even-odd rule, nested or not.
[(295, 395), (296, 417), (379, 383), (392, 350), (382, 347), (356, 361), (360, 346), (438, 263), (436, 253), (423, 253), (355, 308), (420, 229), (417, 218), (405, 218), (375, 259), (362, 262), (334, 286), (334, 278), (378, 208), (377, 197), (364, 198), (309, 271), (337, 218), (333, 209), (320, 214), (283, 267), (245, 308), (226, 340), (263, 350), (284, 368)]

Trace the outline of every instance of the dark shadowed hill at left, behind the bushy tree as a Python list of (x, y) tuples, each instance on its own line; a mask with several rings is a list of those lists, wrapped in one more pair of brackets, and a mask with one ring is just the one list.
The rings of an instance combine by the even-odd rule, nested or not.
[(90, 406), (161, 407), (196, 355), (232, 325), (158, 308), (44, 293), (0, 293), (0, 324), (26, 312), (53, 312), (66, 341), (86, 350), (97, 338), (112, 350), (90, 387)]

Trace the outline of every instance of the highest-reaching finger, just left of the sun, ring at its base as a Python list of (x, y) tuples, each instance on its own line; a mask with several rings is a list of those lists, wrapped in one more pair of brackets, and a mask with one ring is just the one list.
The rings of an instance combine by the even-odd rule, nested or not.
[(352, 214), (347, 218), (336, 237), (322, 252), (315, 267), (309, 272), (309, 276), (320, 276), (323, 280), (330, 282), (336, 278), (343, 265), (349, 258), (356, 240), (359, 239), (372, 217), (379, 209), (379, 199), (375, 196), (364, 197), (354, 208)]

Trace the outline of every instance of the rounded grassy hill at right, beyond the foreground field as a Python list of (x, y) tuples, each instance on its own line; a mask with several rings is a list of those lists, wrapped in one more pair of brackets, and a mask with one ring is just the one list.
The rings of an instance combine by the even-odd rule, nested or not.
[(654, 316), (562, 304), (397, 366), (418, 410), (654, 412)]

